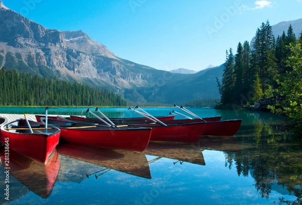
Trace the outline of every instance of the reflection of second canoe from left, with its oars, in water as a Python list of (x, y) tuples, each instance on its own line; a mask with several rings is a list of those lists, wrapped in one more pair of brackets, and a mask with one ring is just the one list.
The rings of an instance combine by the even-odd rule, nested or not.
[(110, 170), (116, 170), (138, 177), (151, 178), (147, 158), (141, 152), (94, 147), (67, 142), (60, 143), (57, 146), (57, 149), (61, 156), (67, 156), (69, 158), (103, 167), (96, 170), (96, 172), (86, 173), (87, 177), (95, 175), (98, 179), (102, 174), (105, 174)]

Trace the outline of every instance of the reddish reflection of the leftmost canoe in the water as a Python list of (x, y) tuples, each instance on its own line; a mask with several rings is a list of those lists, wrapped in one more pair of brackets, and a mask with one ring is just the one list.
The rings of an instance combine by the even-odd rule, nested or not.
[[(5, 150), (1, 149), (0, 162), (6, 169)], [(38, 162), (10, 150), (10, 175), (42, 198), (47, 198), (54, 187), (60, 169), (60, 158), (56, 150), (45, 163)]]

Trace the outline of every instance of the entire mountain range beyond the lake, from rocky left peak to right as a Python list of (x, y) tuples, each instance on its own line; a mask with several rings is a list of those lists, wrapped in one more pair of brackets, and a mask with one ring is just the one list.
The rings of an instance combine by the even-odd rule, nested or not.
[(183, 69), (156, 70), (116, 56), (81, 30), (47, 29), (1, 0), (0, 19), (0, 68), (106, 88), (137, 103), (173, 105), (220, 97), (215, 78), (221, 79), (223, 64), (191, 75), (182, 74), (188, 72)]

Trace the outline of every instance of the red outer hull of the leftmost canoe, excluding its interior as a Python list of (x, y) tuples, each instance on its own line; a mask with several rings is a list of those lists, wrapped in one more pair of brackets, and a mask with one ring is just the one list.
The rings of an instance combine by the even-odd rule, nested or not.
[[(20, 124), (23, 123), (21, 121)], [(11, 132), (6, 130), (6, 128), (9, 128), (9, 124), (1, 126), (1, 142), (9, 145), (9, 149), (39, 162), (45, 163), (59, 143), (60, 130), (56, 127), (48, 129), (48, 133), (38, 133), (36, 130), (34, 130), (34, 133), (29, 133), (29, 130)]]

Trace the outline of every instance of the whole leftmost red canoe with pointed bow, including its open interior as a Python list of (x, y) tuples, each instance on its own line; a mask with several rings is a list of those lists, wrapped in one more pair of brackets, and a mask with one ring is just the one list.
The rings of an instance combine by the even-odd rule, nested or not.
[(45, 163), (48, 156), (54, 151), (59, 143), (60, 129), (30, 121), (33, 133), (27, 126), (25, 119), (18, 119), (1, 126), (1, 142), (10, 150)]

